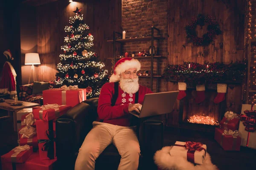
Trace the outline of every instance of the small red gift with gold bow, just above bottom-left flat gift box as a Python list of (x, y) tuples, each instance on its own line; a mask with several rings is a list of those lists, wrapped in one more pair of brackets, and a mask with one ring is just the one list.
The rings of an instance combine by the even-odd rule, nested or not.
[[(33, 148), (38, 148), (38, 138), (37, 138), (37, 134), (36, 134), (36, 129), (35, 130), (27, 130), (27, 128), (29, 127), (23, 127), (23, 129), (19, 129), (19, 144), (21, 146), (25, 145), (25, 144), (28, 144), (29, 146), (33, 146)], [(32, 129), (34, 127), (30, 127), (30, 129)], [(23, 132), (25, 129), (25, 133), (21, 133), (20, 132)], [(22, 131), (20, 131), (22, 130)]]

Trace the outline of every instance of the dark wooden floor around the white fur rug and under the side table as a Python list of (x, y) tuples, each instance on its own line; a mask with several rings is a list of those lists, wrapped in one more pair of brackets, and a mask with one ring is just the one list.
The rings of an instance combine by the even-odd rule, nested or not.
[[(0, 110), (0, 116), (2, 114), (7, 113)], [(3, 155), (17, 146), (17, 132), (13, 131), (12, 119), (1, 120), (0, 126), (0, 155)], [(240, 151), (224, 151), (214, 140), (214, 133), (168, 127), (164, 138), (164, 146), (171, 146), (176, 141), (194, 141), (206, 144), (212, 163), (220, 170), (242, 170), (245, 167), (247, 169), (255, 169), (256, 150), (241, 147)]]

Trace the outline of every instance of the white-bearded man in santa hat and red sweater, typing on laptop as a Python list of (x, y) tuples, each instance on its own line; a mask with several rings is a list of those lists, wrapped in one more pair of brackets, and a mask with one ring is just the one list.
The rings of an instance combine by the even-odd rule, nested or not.
[(94, 170), (95, 160), (113, 143), (121, 155), (118, 170), (137, 170), (140, 144), (131, 125), (132, 114), (140, 113), (149, 88), (139, 85), (140, 62), (126, 57), (116, 62), (110, 82), (102, 86), (98, 102), (98, 119), (79, 149), (75, 170)]

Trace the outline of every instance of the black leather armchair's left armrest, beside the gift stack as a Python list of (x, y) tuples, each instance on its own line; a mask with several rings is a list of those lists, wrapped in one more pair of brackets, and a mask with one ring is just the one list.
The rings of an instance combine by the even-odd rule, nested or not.
[(56, 120), (56, 152), (58, 159), (68, 160), (81, 147), (85, 136), (91, 130), (97, 114), (88, 99), (79, 103)]

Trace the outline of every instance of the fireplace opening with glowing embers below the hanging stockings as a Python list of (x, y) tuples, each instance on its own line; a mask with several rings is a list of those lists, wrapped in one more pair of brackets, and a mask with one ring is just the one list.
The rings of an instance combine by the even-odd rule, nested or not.
[(179, 127), (212, 132), (219, 127), (218, 122), (226, 111), (226, 100), (215, 104), (213, 100), (216, 95), (216, 85), (207, 86), (205, 100), (197, 104), (195, 87), (188, 84), (186, 97), (179, 104)]

